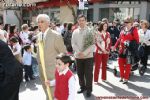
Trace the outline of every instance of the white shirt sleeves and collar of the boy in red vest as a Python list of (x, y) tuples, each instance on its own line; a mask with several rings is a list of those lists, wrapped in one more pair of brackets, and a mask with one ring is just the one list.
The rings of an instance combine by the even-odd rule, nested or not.
[[(63, 72), (59, 72), (59, 75), (62, 75), (62, 74), (66, 74), (68, 72), (69, 68), (66, 68)], [(69, 96), (68, 96), (68, 100), (76, 100), (76, 79), (75, 79), (75, 76), (71, 76), (69, 81), (68, 81), (68, 87), (69, 87)], [(56, 84), (56, 80), (53, 79), (52, 81), (50, 81), (50, 86), (55, 86)]]

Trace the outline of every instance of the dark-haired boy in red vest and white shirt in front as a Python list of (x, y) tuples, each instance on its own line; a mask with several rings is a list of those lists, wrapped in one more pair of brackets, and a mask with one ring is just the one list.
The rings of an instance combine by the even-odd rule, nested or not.
[(76, 79), (69, 69), (71, 58), (67, 54), (56, 57), (55, 79), (45, 81), (47, 86), (55, 86), (54, 100), (75, 100)]

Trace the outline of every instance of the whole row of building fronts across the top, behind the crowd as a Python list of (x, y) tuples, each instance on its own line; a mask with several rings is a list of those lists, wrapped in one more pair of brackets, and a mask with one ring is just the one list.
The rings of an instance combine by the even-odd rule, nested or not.
[[(7, 0), (10, 1), (10, 0)], [(0, 21), (8, 24), (17, 24), (20, 22), (30, 24), (36, 22), (38, 14), (48, 14), (52, 22), (75, 22), (76, 16), (83, 13), (88, 21), (97, 22), (102, 18), (108, 18), (110, 21), (118, 18), (123, 20), (126, 16), (133, 16), (134, 19), (147, 19), (150, 21), (150, 0), (88, 0), (88, 9), (79, 10), (78, 0), (13, 0), (16, 3), (35, 4), (34, 6), (17, 6), (17, 9), (1, 10)], [(7, 4), (10, 4), (7, 3)], [(0, 3), (0, 7), (2, 3)], [(73, 9), (70, 9), (70, 7)], [(17, 15), (17, 16), (16, 16)], [(11, 19), (14, 20), (11, 20)]]

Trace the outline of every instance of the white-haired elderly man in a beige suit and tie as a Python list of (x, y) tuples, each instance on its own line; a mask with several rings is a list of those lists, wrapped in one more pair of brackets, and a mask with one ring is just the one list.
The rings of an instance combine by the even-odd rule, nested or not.
[[(62, 36), (49, 28), (50, 18), (46, 14), (39, 14), (37, 16), (37, 22), (39, 30), (41, 31), (38, 34), (38, 41), (43, 41), (43, 51), (44, 51), (44, 62), (45, 62), (45, 71), (46, 76), (49, 80), (53, 80), (55, 78), (55, 59), (59, 53), (66, 52), (66, 47), (63, 42)], [(41, 60), (38, 53), (38, 62), (39, 62), (39, 70), (40, 70), (40, 78), (42, 81), (42, 86), (46, 93), (46, 98), (48, 100), (48, 94), (46, 91), (46, 86), (44, 84), (44, 75), (41, 67)], [(51, 95), (54, 94), (54, 88), (50, 87)]]

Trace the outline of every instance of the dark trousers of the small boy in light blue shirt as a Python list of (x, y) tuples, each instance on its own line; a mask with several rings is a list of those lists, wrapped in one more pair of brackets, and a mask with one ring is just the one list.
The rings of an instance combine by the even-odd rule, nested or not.
[(32, 66), (24, 65), (24, 70), (25, 70), (25, 80), (27, 81), (28, 78), (32, 79), (33, 78)]

